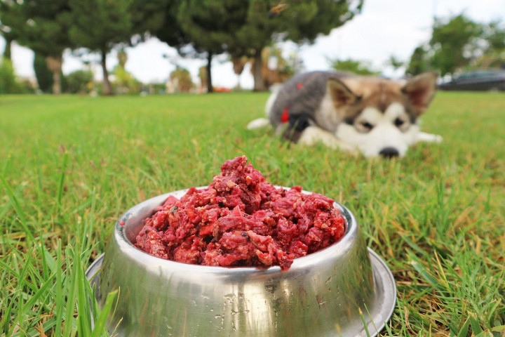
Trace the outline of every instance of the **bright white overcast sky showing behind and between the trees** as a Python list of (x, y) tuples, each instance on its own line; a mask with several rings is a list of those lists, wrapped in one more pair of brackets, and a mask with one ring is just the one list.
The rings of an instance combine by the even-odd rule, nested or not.
[[(285, 56), (298, 53), (307, 71), (328, 70), (328, 59), (351, 58), (368, 62), (372, 69), (382, 71), (385, 76), (401, 77), (404, 70), (394, 71), (386, 65), (389, 57), (394, 55), (399, 60), (408, 61), (417, 46), (429, 41), (434, 17), (449, 18), (459, 13), (483, 23), (500, 18), (505, 20), (505, 0), (365, 0), (361, 14), (342, 27), (332, 29), (328, 36), (318, 37), (314, 44), (298, 46), (288, 41), (278, 46)], [(0, 51), (4, 48), (5, 41), (0, 37)], [(174, 48), (154, 38), (126, 48), (126, 53), (126, 70), (144, 83), (166, 81), (175, 65), (189, 70), (197, 82), (198, 68), (206, 65), (206, 60), (178, 56)], [(34, 77), (32, 51), (15, 44), (12, 58), (18, 76)], [(112, 70), (117, 65), (116, 52), (112, 51), (107, 58), (107, 68)], [(98, 60), (98, 57), (84, 59)], [(82, 60), (66, 51), (63, 73), (82, 69)], [(102, 79), (101, 67), (96, 63), (92, 68), (95, 77)], [(232, 88), (240, 81), (242, 88), (253, 88), (250, 68), (246, 66), (237, 77), (226, 55), (215, 58), (211, 69), (214, 86)]]

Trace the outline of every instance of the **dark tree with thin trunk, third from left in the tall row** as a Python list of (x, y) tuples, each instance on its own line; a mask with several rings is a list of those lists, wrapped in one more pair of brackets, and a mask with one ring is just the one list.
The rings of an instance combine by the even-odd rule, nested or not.
[(243, 0), (182, 0), (177, 15), (197, 57), (207, 58), (207, 91), (213, 92), (211, 65), (214, 55), (227, 50), (243, 25), (247, 7)]

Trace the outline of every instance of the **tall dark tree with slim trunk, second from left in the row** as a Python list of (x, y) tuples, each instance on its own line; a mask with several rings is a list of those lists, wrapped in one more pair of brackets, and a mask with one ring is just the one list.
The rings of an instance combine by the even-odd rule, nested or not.
[(107, 53), (129, 41), (132, 33), (131, 0), (69, 0), (72, 7), (70, 38), (77, 46), (100, 53), (103, 93), (112, 95)]

